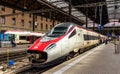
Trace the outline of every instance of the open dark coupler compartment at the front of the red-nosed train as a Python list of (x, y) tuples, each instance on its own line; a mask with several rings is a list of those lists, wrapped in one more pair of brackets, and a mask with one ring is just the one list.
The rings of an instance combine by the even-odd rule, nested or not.
[(31, 63), (44, 63), (47, 61), (47, 53), (41, 51), (28, 50), (28, 59)]

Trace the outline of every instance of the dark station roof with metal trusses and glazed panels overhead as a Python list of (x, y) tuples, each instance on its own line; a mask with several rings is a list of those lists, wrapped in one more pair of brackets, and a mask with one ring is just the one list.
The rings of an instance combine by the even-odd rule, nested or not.
[[(24, 13), (34, 13), (50, 19), (69, 21), (70, 0), (0, 0), (0, 4)], [(84, 24), (88, 21), (106, 24), (115, 18), (113, 13), (119, 14), (119, 0), (71, 0), (72, 22)], [(115, 12), (115, 10), (118, 10)], [(113, 11), (113, 12), (111, 12)], [(21, 13), (19, 13), (21, 14)], [(6, 14), (5, 16), (18, 15)], [(4, 16), (1, 15), (0, 16)], [(101, 19), (100, 19), (101, 18)], [(118, 18), (119, 19), (119, 16)], [(101, 22), (101, 23), (100, 23)]]

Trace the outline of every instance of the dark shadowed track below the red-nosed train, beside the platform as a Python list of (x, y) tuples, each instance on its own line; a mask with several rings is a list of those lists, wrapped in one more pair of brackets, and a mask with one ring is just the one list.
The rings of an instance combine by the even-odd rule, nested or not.
[[(63, 59), (63, 58), (61, 58)], [(61, 63), (64, 62), (64, 60), (58, 59), (53, 63), (50, 64), (43, 64), (43, 65), (37, 65), (37, 66), (31, 66), (28, 69), (25, 68), (25, 70), (23, 69), (23, 71), (19, 71), (16, 74), (41, 74)]]

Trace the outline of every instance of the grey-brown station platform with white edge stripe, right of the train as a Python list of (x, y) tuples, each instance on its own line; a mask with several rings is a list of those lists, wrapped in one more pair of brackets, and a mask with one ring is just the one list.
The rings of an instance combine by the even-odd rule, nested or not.
[(120, 53), (102, 44), (42, 74), (120, 74)]

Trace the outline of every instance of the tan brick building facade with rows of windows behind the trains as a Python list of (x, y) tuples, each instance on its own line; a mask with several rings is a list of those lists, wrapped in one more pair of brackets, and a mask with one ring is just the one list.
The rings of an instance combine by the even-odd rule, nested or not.
[[(19, 12), (22, 11), (0, 5), (0, 32), (6, 30), (33, 31), (33, 14), (14, 14)], [(46, 32), (54, 26), (53, 20), (46, 17), (36, 15), (35, 21), (34, 31), (36, 32)], [(58, 23), (60, 22), (55, 20), (54, 24)]]

